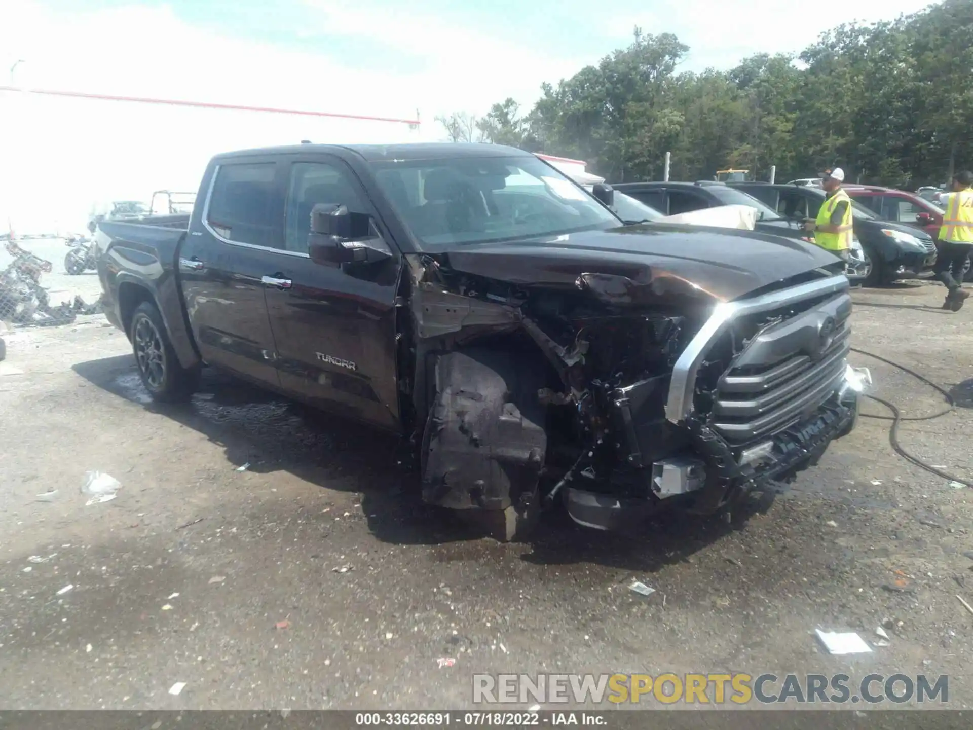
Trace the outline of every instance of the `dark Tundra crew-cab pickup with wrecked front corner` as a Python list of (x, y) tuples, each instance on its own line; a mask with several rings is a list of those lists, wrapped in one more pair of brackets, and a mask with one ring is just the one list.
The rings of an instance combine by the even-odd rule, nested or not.
[(412, 439), (422, 496), (522, 537), (713, 513), (854, 426), (844, 264), (623, 226), (509, 147), (303, 144), (208, 166), (191, 216), (105, 221), (106, 313), (158, 400), (203, 364)]

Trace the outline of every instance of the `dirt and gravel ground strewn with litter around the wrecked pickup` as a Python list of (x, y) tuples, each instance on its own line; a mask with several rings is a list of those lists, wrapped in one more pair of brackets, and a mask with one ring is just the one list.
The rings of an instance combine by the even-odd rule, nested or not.
[[(903, 445), (973, 481), (973, 308), (938, 309), (928, 283), (854, 296), (855, 347), (955, 395), (903, 424)], [(942, 408), (853, 363), (905, 415)], [(551, 515), (506, 545), (423, 507), (390, 437), (214, 373), (188, 406), (151, 404), (100, 315), (19, 330), (4, 365), (0, 707), (463, 708), (475, 672), (719, 671), (948, 674), (950, 707), (973, 704), (955, 598), (973, 601), (971, 490), (896, 456), (886, 421), (738, 524), (618, 536)], [(118, 497), (86, 506), (87, 470)], [(874, 641), (883, 622), (871, 654), (812, 636)]]

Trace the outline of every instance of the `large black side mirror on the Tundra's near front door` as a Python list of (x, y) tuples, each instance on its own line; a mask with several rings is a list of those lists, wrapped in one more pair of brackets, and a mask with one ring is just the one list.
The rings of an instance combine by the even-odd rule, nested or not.
[(315, 264), (371, 264), (392, 257), (380, 237), (371, 237), (372, 219), (365, 213), (352, 213), (346, 206), (317, 203), (310, 212), (307, 255)]

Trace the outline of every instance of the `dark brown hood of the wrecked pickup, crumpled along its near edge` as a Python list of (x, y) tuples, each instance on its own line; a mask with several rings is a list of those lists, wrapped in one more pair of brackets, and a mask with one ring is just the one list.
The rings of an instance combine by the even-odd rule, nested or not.
[(794, 238), (663, 223), (460, 244), (443, 257), (454, 271), (523, 286), (580, 284), (619, 304), (673, 295), (726, 302), (839, 261)]

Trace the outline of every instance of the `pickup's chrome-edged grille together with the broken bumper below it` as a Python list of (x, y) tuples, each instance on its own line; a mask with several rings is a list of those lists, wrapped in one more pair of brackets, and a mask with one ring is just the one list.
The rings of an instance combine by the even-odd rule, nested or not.
[(613, 529), (667, 503), (708, 514), (816, 463), (870, 382), (847, 364), (850, 312), (844, 275), (721, 303), (668, 372), (592, 383), (618, 458), (607, 484), (575, 468), (560, 485), (571, 517)]

